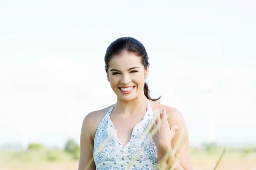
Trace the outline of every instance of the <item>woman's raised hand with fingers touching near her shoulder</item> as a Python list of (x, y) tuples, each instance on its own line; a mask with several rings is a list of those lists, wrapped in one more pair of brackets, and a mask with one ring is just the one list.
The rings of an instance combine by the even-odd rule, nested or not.
[[(166, 115), (166, 109), (163, 109), (163, 111), (159, 114), (156, 114), (156, 119), (153, 122), (152, 128), (150, 130), (150, 133), (154, 130), (154, 128), (161, 124), (160, 127), (158, 127), (157, 132), (152, 136), (152, 139), (154, 143), (156, 144), (157, 149), (164, 149), (166, 148), (172, 148), (171, 142), (172, 138), (175, 135), (175, 130), (178, 129), (178, 126), (172, 126), (170, 128), (168, 120), (167, 120), (167, 115)], [(152, 119), (153, 121), (153, 119)], [(162, 122), (161, 122), (162, 121)]]

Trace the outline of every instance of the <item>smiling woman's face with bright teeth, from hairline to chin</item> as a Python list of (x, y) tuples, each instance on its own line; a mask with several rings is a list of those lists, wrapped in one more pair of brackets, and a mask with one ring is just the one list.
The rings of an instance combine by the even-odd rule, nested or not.
[[(148, 65), (149, 68), (149, 65)], [(123, 52), (113, 56), (109, 62), (108, 81), (115, 94), (124, 101), (131, 101), (144, 95), (144, 81), (148, 78), (141, 57)]]

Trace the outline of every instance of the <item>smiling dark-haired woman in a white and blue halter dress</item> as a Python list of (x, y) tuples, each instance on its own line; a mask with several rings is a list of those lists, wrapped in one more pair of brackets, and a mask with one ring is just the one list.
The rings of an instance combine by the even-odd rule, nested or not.
[[(117, 100), (85, 116), (79, 170), (86, 166), (88, 170), (156, 170), (161, 160), (166, 164), (171, 160), (173, 166), (177, 155), (180, 161), (175, 170), (192, 170), (183, 116), (177, 109), (156, 102), (160, 98), (151, 99), (145, 83), (149, 66), (147, 52), (138, 40), (122, 37), (109, 45), (105, 71)], [(157, 131), (151, 137), (154, 128)], [(163, 159), (174, 147), (176, 154)]]

